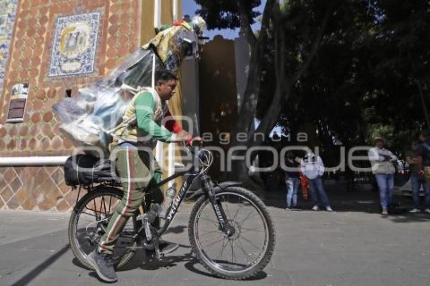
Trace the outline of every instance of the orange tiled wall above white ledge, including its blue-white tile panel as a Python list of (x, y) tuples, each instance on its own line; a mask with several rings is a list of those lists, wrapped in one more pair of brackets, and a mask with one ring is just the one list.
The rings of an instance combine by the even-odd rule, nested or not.
[[(138, 49), (140, 14), (138, 0), (19, 2), (0, 97), (0, 157), (70, 153), (52, 106)], [(6, 123), (11, 88), (20, 82), (29, 83), (24, 122)]]

